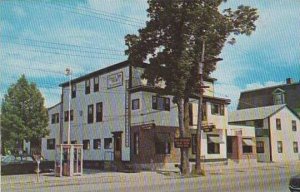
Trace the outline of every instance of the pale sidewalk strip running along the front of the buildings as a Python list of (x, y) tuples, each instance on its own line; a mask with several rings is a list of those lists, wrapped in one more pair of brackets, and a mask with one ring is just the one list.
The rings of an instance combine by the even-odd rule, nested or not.
[[(300, 161), (297, 162), (286, 162), (286, 163), (256, 163), (255, 165), (218, 165), (214, 166), (205, 165), (204, 170), (207, 175), (218, 175), (218, 174), (229, 174), (233, 172), (246, 172), (253, 170), (266, 170), (266, 169), (293, 169), (300, 167)], [(162, 170), (160, 172), (178, 172), (178, 168), (174, 170)], [(37, 182), (36, 174), (26, 175), (8, 175), (1, 176), (1, 187), (2, 186), (17, 186), (17, 185), (28, 185), (34, 184), (36, 186), (60, 186), (60, 185), (80, 185), (89, 183), (116, 183), (116, 182), (129, 182), (134, 178), (144, 177), (145, 179), (164, 179), (165, 175), (159, 174), (158, 172), (141, 171), (138, 173), (122, 173), (122, 172), (103, 172), (100, 170), (84, 170), (82, 176), (73, 177), (55, 177), (54, 173), (44, 173), (40, 175), (40, 182)]]

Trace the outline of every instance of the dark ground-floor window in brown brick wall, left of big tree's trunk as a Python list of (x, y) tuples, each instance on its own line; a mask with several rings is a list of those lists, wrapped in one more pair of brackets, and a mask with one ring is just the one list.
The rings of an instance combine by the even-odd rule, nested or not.
[(168, 133), (157, 133), (155, 138), (155, 153), (170, 154), (171, 138)]

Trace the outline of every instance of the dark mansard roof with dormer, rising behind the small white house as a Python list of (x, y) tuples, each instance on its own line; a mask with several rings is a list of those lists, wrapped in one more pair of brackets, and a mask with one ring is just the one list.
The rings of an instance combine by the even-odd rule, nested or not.
[(300, 82), (286, 79), (286, 84), (244, 91), (237, 109), (286, 104), (300, 114)]

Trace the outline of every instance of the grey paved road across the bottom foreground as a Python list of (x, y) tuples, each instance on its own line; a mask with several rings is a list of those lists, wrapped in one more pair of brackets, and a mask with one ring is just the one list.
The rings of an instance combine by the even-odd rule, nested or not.
[(205, 177), (180, 178), (163, 176), (156, 173), (127, 174), (119, 180), (105, 182), (73, 182), (67, 185), (45, 185), (36, 188), (35, 184), (23, 186), (5, 186), (2, 191), (288, 191), (288, 180), (291, 175), (300, 172), (300, 167), (261, 167), (241, 169)]

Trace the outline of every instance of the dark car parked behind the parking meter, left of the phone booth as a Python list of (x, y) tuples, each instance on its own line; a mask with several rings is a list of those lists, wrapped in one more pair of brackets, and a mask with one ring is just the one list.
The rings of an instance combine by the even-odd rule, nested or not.
[[(42, 159), (40, 172), (50, 172), (54, 169), (54, 162)], [(1, 158), (1, 175), (15, 175), (36, 173), (37, 162), (32, 156), (7, 155)]]

